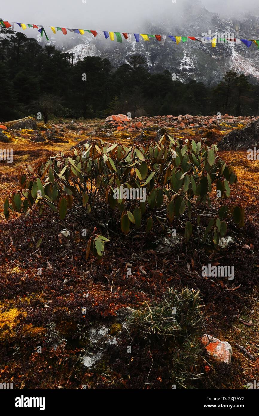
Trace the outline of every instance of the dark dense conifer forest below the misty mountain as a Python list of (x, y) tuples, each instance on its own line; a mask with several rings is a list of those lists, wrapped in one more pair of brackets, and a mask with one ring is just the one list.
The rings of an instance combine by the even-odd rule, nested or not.
[[(5, 31), (1, 28), (2, 32)], [(10, 33), (10, 31), (9, 31)], [(114, 68), (101, 57), (73, 56), (45, 46), (23, 33), (0, 38), (0, 120), (42, 113), (49, 117), (259, 114), (259, 85), (229, 70), (215, 87), (172, 74), (148, 71), (142, 55)]]

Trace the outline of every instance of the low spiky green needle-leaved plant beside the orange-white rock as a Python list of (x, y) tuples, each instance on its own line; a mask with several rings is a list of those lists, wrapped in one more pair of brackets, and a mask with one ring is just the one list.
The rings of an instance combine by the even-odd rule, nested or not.
[[(168, 354), (169, 371), (177, 388), (194, 388), (202, 376), (199, 369), (202, 329), (200, 292), (169, 289), (162, 300), (143, 304), (128, 318), (131, 335), (147, 342), (152, 350)], [(175, 308), (175, 309), (174, 309)]]

